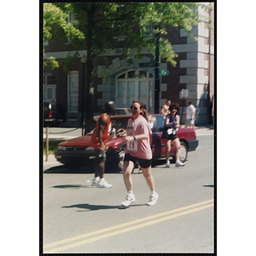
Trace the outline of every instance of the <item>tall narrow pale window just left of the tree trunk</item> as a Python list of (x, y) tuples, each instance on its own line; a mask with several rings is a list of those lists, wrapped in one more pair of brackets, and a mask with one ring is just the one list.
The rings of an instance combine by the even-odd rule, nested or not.
[(67, 74), (67, 112), (79, 112), (79, 72)]

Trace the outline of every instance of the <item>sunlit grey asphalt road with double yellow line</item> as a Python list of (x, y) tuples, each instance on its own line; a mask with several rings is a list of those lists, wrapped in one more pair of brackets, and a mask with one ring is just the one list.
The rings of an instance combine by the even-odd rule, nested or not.
[[(44, 253), (213, 253), (213, 136), (198, 134), (199, 147), (184, 167), (153, 168), (154, 207), (138, 169), (132, 174), (137, 201), (125, 199), (122, 173), (106, 173), (111, 189), (90, 183), (93, 167), (70, 171), (51, 166), (44, 171)], [(109, 171), (109, 170), (108, 170)]]

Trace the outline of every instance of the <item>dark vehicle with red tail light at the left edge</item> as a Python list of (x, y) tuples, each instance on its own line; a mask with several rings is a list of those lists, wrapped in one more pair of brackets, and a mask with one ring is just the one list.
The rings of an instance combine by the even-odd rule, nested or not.
[(60, 125), (66, 121), (66, 110), (61, 103), (44, 102), (44, 126)]

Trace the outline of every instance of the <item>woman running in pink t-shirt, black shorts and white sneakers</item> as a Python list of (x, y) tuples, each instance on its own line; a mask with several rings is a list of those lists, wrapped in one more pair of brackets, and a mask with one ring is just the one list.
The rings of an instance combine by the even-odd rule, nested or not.
[(154, 177), (151, 174), (152, 151), (150, 139), (152, 131), (148, 125), (148, 112), (143, 102), (136, 100), (132, 102), (131, 113), (132, 118), (128, 120), (126, 127), (127, 136), (124, 137), (123, 143), (118, 147), (119, 149), (126, 144), (123, 178), (127, 195), (122, 205), (128, 207), (136, 201), (133, 194), (131, 172), (138, 161), (151, 191), (148, 206), (154, 206), (159, 195), (155, 192)]

